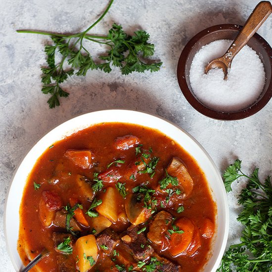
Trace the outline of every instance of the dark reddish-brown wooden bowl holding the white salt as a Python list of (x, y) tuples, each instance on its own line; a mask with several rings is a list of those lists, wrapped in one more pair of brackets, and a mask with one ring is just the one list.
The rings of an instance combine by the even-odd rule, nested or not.
[(240, 25), (223, 24), (209, 27), (195, 35), (183, 48), (178, 63), (177, 76), (181, 91), (187, 101), (198, 112), (208, 117), (219, 120), (238, 120), (249, 117), (261, 110), (272, 97), (272, 48), (258, 34), (254, 34), (247, 45), (256, 51), (262, 60), (266, 73), (266, 83), (259, 98), (243, 110), (233, 112), (221, 112), (209, 108), (200, 102), (192, 91), (189, 71), (196, 52), (204, 45), (216, 40), (234, 40), (242, 29)]

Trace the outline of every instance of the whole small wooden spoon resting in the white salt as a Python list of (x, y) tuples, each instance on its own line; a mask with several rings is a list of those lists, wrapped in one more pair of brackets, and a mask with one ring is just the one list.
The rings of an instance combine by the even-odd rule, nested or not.
[(264, 23), (264, 21), (269, 17), (271, 13), (271, 3), (268, 1), (260, 2), (247, 19), (241, 32), (227, 49), (226, 54), (222, 57), (215, 58), (210, 61), (205, 67), (205, 74), (207, 74), (210, 69), (221, 68), (223, 69), (225, 75), (224, 79), (226, 80), (227, 71), (228, 69), (230, 69), (233, 57), (242, 49), (242, 47), (254, 35), (254, 33), (259, 29), (259, 27)]

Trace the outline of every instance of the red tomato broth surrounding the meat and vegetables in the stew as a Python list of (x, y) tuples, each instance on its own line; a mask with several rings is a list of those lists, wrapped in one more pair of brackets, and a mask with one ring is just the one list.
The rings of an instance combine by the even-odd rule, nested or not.
[[(48, 148), (38, 159), (29, 175), (20, 206), (20, 230), (18, 240), (18, 252), (25, 265), (29, 263), (29, 259), (33, 259), (46, 247), (50, 251), (50, 255), (45, 257), (45, 259), (37, 265), (36, 270), (39, 267), (42, 271), (58, 271), (56, 267), (56, 256), (60, 253), (54, 250), (51, 234), (59, 230), (59, 228), (44, 227), (38, 215), (39, 201), (43, 191), (51, 190), (59, 194), (62, 200), (62, 206), (66, 206), (71, 197), (77, 198), (82, 203), (84, 212), (88, 210), (90, 202), (77, 193), (77, 188), (73, 180), (78, 174), (92, 179), (94, 172), (102, 173), (106, 171), (107, 165), (117, 159), (126, 161), (122, 167), (128, 166), (130, 161), (135, 160), (135, 147), (127, 150), (114, 148), (115, 139), (126, 135), (137, 136), (140, 141), (139, 143), (143, 144), (143, 148), (148, 149), (151, 147), (152, 156), (159, 157), (154, 177), (150, 178), (149, 174), (141, 174), (137, 176), (136, 181), (127, 180), (127, 190), (131, 190), (143, 181), (150, 181), (148, 187), (156, 188), (158, 181), (164, 178), (164, 169), (168, 166), (172, 157), (179, 157), (194, 182), (193, 191), (188, 198), (181, 200), (180, 203), (174, 203), (172, 209), (165, 210), (177, 218), (187, 217), (191, 219), (197, 228), (202, 227), (204, 218), (210, 219), (215, 224), (216, 204), (212, 199), (205, 175), (198, 167), (197, 162), (179, 144), (157, 130), (138, 125), (123, 123), (97, 124), (55, 142), (53, 147)], [(91, 162), (93, 166), (90, 169), (83, 169), (75, 165), (71, 160), (65, 158), (64, 154), (69, 149), (90, 150), (93, 156)], [(57, 171), (56, 168), (58, 169)], [(56, 184), (53, 184), (54, 179), (58, 180)], [(33, 182), (41, 184), (40, 188), (35, 190)], [(104, 188), (107, 188), (108, 186), (115, 187), (116, 182), (103, 183)], [(98, 199), (99, 193), (101, 192), (97, 194)], [(124, 198), (120, 195), (118, 198), (118, 209), (120, 212), (124, 211), (122, 201), (124, 201)], [(176, 210), (181, 204), (184, 207), (184, 211), (178, 214)], [(158, 208), (158, 211), (160, 211), (160, 208)], [(90, 223), (91, 220), (87, 215), (86, 218)], [(112, 224), (111, 228), (117, 232), (118, 230), (122, 232), (128, 226), (130, 226), (130, 223), (122, 225), (121, 222), (117, 221)], [(84, 228), (83, 235), (89, 234), (90, 231), (91, 227)], [(192, 256), (181, 254), (177, 257), (172, 257), (167, 251), (160, 252), (158, 246), (152, 244), (152, 247), (160, 256), (164, 256), (170, 261), (180, 264), (181, 271), (199, 271), (207, 262), (212, 241), (212, 239), (204, 238), (201, 235), (200, 239), (201, 247)], [(102, 253), (99, 253), (99, 255), (101, 257), (103, 256)], [(71, 259), (73, 257), (72, 255), (67, 255), (67, 258)], [(74, 261), (74, 263), (76, 263), (76, 261)], [(99, 267), (101, 267), (99, 257), (97, 260), (97, 264), (98, 263)], [(35, 268), (33, 271), (35, 271)], [(95, 268), (90, 271), (95, 271)]]

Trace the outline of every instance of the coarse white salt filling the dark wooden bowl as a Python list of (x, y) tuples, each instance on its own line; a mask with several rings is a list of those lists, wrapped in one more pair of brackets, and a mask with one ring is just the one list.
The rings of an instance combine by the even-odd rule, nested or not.
[(230, 40), (218, 40), (202, 46), (192, 60), (189, 73), (197, 99), (222, 112), (235, 112), (251, 106), (262, 93), (266, 80), (261, 59), (248, 45), (233, 58), (227, 80), (219, 68), (204, 73), (208, 62), (224, 55), (231, 43)]

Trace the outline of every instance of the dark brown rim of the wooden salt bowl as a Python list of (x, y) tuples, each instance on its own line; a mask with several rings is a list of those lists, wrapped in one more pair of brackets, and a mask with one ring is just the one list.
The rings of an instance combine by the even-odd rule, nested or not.
[[(270, 79), (270, 84), (268, 86), (267, 91), (264, 93), (263, 97), (257, 102), (254, 103), (251, 106), (248, 106), (247, 108), (240, 110), (240, 111), (234, 111), (234, 112), (220, 112), (216, 111), (214, 109), (209, 108), (208, 106), (204, 105), (200, 101), (196, 99), (196, 97), (192, 94), (190, 91), (186, 77), (185, 77), (185, 67), (187, 63), (187, 59), (189, 57), (191, 48), (203, 37), (211, 35), (213, 32), (219, 32), (219, 31), (226, 31), (226, 30), (234, 30), (234, 31), (240, 31), (242, 29), (241, 25), (237, 24), (220, 24), (208, 27), (199, 33), (197, 33), (193, 38), (190, 39), (190, 41), (184, 46), (179, 62), (177, 67), (177, 78), (179, 82), (180, 89), (185, 96), (186, 100), (189, 102), (189, 104), (196, 109), (201, 114), (218, 120), (239, 120), (246, 117), (249, 117), (258, 111), (260, 111), (271, 99), (272, 97), (272, 77)], [(251, 39), (255, 39), (258, 41), (259, 44), (261, 44), (265, 50), (267, 51), (268, 55), (272, 55), (272, 48), (268, 44), (268, 42), (261, 37), (259, 34), (255, 33)], [(269, 59), (271, 69), (272, 69), (272, 58)]]

